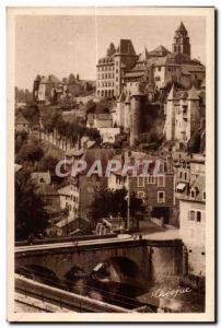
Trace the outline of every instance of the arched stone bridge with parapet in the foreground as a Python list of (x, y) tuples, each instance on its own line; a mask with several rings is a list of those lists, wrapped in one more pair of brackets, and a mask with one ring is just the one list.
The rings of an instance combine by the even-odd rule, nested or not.
[(74, 268), (90, 276), (108, 262), (117, 282), (143, 285), (163, 276), (182, 274), (183, 243), (173, 241), (109, 239), (15, 247), (15, 268), (37, 266), (66, 279)]

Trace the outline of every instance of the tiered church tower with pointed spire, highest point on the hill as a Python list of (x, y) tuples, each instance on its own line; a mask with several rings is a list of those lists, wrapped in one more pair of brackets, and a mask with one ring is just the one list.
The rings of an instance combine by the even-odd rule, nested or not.
[(181, 22), (178, 28), (175, 31), (173, 52), (175, 55), (178, 55), (178, 58), (182, 62), (190, 60), (190, 44), (188, 32), (183, 22)]

